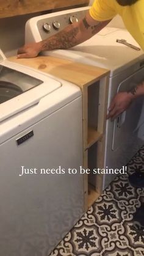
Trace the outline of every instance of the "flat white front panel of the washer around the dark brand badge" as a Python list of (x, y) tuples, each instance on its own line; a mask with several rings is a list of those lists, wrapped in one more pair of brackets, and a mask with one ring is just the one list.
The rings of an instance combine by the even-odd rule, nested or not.
[(49, 255), (84, 213), (79, 166), (81, 97), (0, 145), (0, 256)]

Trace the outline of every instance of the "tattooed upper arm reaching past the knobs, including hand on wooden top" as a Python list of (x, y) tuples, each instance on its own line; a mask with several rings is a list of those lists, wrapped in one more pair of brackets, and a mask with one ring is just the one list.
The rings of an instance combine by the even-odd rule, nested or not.
[(18, 58), (36, 57), (41, 51), (68, 49), (98, 33), (109, 21), (96, 21), (89, 12), (83, 20), (65, 27), (62, 31), (38, 43), (29, 43), (18, 49)]

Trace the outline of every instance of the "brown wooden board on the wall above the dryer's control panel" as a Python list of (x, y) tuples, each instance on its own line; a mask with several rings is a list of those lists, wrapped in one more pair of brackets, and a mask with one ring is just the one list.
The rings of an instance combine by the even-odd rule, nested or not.
[(89, 0), (0, 0), (0, 18), (88, 4)]

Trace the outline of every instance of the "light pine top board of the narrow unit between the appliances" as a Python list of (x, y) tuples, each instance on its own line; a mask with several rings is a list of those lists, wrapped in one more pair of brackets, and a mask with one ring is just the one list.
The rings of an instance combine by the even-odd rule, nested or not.
[(51, 56), (38, 56), (31, 59), (9, 57), (8, 60), (49, 73), (57, 78), (62, 78), (76, 84), (81, 87), (81, 89), (83, 89), (84, 86), (89, 86), (98, 81), (109, 73), (109, 70), (104, 68), (93, 67)]

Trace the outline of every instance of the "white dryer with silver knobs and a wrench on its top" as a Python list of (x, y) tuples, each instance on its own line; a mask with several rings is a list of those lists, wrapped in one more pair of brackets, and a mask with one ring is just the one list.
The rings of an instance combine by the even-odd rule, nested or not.
[[(32, 18), (26, 23), (26, 43), (38, 42), (56, 34), (57, 27), (63, 29), (68, 24), (80, 20), (88, 9), (89, 7), (82, 7)], [(130, 90), (144, 78), (143, 51), (136, 51), (117, 43), (117, 39), (127, 40), (128, 43), (139, 47), (126, 29), (107, 26), (86, 42), (71, 49), (45, 51), (42, 54), (108, 68), (110, 70), (109, 105), (117, 92)], [(113, 122), (107, 121), (104, 168), (120, 169), (143, 145), (143, 108), (143, 98), (139, 98)], [(114, 176), (104, 175), (104, 188)]]

